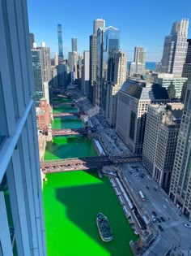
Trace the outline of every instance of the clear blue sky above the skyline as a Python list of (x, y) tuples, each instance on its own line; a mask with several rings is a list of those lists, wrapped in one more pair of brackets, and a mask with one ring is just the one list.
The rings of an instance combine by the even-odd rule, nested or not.
[(134, 46), (146, 48), (146, 61), (160, 61), (164, 37), (171, 32), (172, 23), (182, 18), (191, 23), (191, 0), (28, 0), (28, 18), (37, 46), (45, 41), (52, 56), (58, 51), (57, 24), (62, 24), (67, 58), (72, 37), (78, 39), (78, 53), (89, 50), (93, 20), (102, 18), (106, 27), (120, 29), (121, 50), (128, 61), (134, 59)]

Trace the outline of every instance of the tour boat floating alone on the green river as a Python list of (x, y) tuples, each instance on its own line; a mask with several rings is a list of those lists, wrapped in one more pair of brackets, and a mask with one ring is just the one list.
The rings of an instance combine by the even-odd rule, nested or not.
[(112, 229), (108, 222), (108, 218), (102, 213), (98, 213), (96, 217), (97, 228), (103, 241), (112, 241)]

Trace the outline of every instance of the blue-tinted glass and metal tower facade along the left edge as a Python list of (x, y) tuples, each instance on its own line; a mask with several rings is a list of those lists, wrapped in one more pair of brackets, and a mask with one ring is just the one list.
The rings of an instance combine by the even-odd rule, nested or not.
[(0, 19), (0, 254), (45, 256), (27, 1), (1, 1)]

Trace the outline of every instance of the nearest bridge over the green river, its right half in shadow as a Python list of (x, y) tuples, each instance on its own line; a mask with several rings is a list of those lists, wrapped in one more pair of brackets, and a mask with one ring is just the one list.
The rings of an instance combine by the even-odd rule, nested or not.
[(75, 171), (75, 170), (88, 170), (88, 169), (101, 169), (106, 165), (128, 162), (139, 162), (139, 156), (96, 156), (89, 158), (65, 158), (62, 160), (41, 161), (41, 170), (46, 173)]

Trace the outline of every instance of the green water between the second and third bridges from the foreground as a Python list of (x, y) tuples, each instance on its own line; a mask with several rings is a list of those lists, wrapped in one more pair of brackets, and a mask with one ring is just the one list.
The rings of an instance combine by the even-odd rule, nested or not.
[(62, 129), (62, 128), (83, 128), (83, 121), (77, 118), (54, 118), (52, 122), (53, 129)]

